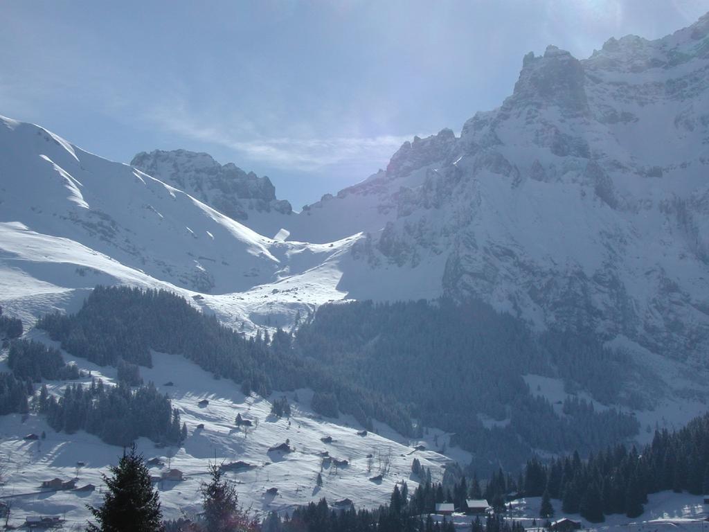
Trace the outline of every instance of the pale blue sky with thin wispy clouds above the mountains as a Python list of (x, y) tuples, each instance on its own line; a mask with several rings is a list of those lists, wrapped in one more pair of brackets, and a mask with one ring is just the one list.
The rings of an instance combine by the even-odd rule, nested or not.
[(204, 151), (299, 210), (501, 104), (526, 52), (659, 38), (708, 0), (0, 0), (0, 115), (130, 162)]

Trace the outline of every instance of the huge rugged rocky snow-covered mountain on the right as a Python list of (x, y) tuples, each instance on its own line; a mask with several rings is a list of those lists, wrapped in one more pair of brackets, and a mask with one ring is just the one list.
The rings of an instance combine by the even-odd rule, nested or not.
[(587, 60), (530, 52), (498, 109), (459, 137), (405, 143), (288, 228), (311, 242), (365, 233), (352, 255), (367, 274), (340, 283), (351, 294), (389, 297), (366, 289), (379, 275), (428, 279), (410, 297), (471, 295), (537, 328), (701, 362), (708, 177), (709, 15), (659, 40), (610, 39)]

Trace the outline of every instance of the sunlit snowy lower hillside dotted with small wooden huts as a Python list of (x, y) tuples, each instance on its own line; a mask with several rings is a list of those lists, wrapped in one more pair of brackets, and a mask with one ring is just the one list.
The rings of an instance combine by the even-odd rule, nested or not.
[[(51, 343), (36, 331), (30, 336)], [(63, 354), (67, 361), (74, 360), (82, 369), (91, 371), (93, 377), (101, 377), (105, 382), (113, 382), (116, 377), (115, 368), (99, 367)], [(242, 460), (254, 466), (242, 472), (229, 472), (227, 476), (235, 482), (241, 503), (261, 514), (271, 510), (286, 512), (320, 497), (330, 502), (349, 498), (358, 507), (379, 506), (388, 500), (396, 482), (406, 480), (410, 489), (418, 484), (418, 477), (411, 472), (413, 458), (430, 467), (437, 480), (442, 477), (445, 464), (451, 461), (432, 450), (414, 450), (415, 445), (425, 442), (406, 440), (381, 423), (376, 423), (377, 433), (359, 436), (357, 432), (362, 427), (351, 416), (323, 419), (310, 409), (312, 392), (306, 389), (285, 394), (274, 392), (272, 399), (285, 395), (293, 409), (290, 418), (279, 419), (270, 413), (269, 400), (256, 395), (245, 397), (238, 385), (228, 379), (216, 380), (181, 356), (164, 353), (152, 356), (154, 366), (141, 367), (141, 376), (169, 395), (189, 431), (179, 448), (156, 448), (150, 440), (138, 440), (138, 448), (146, 460), (157, 457), (164, 462), (163, 467), (151, 469), (153, 475), (167, 470), (168, 463), (184, 473), (182, 482), (157, 484), (167, 518), (177, 518), (182, 511), (200, 511), (199, 487), (206, 480), (208, 462), (214, 460)], [(0, 371), (6, 369), (0, 359)], [(89, 378), (83, 382), (89, 382)], [(174, 385), (164, 386), (167, 382)], [(61, 394), (67, 382), (47, 384), (50, 392)], [(209, 401), (204, 408), (198, 405), (202, 399)], [(234, 423), (237, 414), (252, 420), (255, 427), (248, 431), (237, 428)], [(198, 428), (200, 424), (203, 428)], [(26, 434), (43, 431), (45, 440), (23, 440)], [(320, 440), (325, 436), (333, 438), (332, 443)], [(293, 452), (269, 452), (269, 448), (286, 440)], [(320, 455), (323, 451), (328, 451), (333, 460), (347, 460), (347, 465), (336, 467), (333, 460), (323, 460)], [(56, 514), (63, 516), (67, 525), (85, 523), (89, 514), (84, 505), (100, 503), (100, 487), (104, 485), (101, 473), (107, 472), (121, 453), (121, 448), (107, 445), (84, 431), (72, 435), (57, 433), (37, 414), (26, 419), (19, 414), (0, 417), (0, 460), (9, 466), (6, 483), (0, 486), (0, 497), (13, 496), (10, 522), (19, 524), (31, 514)], [(77, 467), (77, 462), (84, 465)], [(369, 480), (381, 472), (384, 472), (381, 481)], [(322, 487), (316, 485), (318, 473), (323, 477)], [(55, 477), (62, 480), (78, 477), (78, 486), (91, 483), (99, 489), (93, 493), (40, 489), (44, 480)], [(266, 493), (272, 487), (278, 488), (275, 496)]]

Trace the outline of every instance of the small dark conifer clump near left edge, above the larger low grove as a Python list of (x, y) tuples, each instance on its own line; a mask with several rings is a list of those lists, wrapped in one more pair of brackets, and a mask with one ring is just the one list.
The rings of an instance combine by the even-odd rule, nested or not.
[(7, 365), (16, 377), (33, 382), (40, 382), (42, 379), (78, 379), (81, 376), (76, 365), (64, 362), (58, 349), (34, 340), (13, 340), (10, 343)]

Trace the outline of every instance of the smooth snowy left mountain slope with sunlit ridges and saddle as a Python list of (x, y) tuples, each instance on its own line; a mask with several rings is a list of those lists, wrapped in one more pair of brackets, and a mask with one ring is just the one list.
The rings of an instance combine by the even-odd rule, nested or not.
[[(172, 289), (246, 330), (344, 297), (330, 262), (354, 238), (278, 238), (40, 126), (0, 118), (0, 300), (29, 323), (99, 283)], [(272, 284), (284, 279), (303, 289), (279, 294)]]

